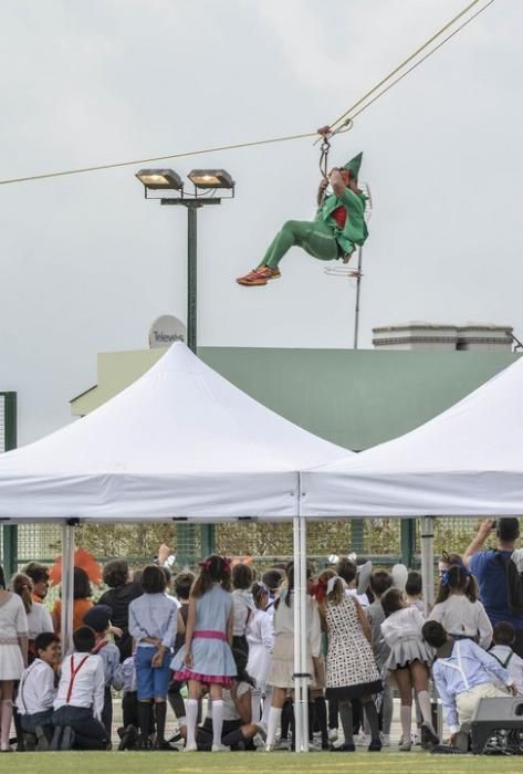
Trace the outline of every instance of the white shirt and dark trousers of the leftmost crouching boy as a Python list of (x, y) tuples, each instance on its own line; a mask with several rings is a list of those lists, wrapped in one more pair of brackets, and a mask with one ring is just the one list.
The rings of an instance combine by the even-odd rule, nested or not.
[(54, 670), (36, 658), (24, 670), (17, 695), (17, 709), (23, 731), (36, 733), (42, 728), (49, 739), (52, 735), (53, 702), (56, 697)]

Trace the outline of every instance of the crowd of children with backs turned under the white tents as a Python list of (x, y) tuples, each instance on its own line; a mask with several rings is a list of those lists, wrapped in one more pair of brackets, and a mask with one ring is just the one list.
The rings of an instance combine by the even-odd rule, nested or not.
[[(121, 750), (289, 749), (293, 564), (257, 578), (249, 564), (213, 555), (198, 575), (175, 577), (174, 596), (170, 573), (158, 564), (139, 582), (125, 562), (111, 565), (104, 577), (114, 584), (97, 604), (76, 574), (82, 618), (64, 653), (43, 605), (44, 568), (29, 566), (10, 592), (0, 589), (1, 751), (13, 749), (13, 704), (19, 750), (111, 749), (113, 691), (123, 691)], [(411, 749), (414, 707), (422, 744), (438, 745), (430, 680), (452, 744), (481, 698), (523, 693), (514, 627), (492, 626), (457, 554), (442, 557), (428, 615), (420, 574), (402, 566), (372, 572), (370, 563), (341, 558), (315, 577), (310, 567), (307, 592), (310, 738), (317, 733), (323, 750), (353, 752), (359, 729), (369, 752), (390, 745), (395, 691), (399, 750)], [(178, 729), (170, 740), (168, 704)]]

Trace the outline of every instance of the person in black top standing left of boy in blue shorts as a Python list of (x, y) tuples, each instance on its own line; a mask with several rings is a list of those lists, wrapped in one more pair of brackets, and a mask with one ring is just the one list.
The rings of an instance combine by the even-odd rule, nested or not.
[(129, 605), (144, 592), (139, 583), (129, 580), (129, 566), (124, 559), (107, 562), (104, 566), (103, 577), (109, 590), (102, 594), (98, 605), (111, 607), (111, 623), (123, 631), (122, 637), (115, 636), (115, 642), (119, 649), (121, 661), (125, 661), (133, 652), (133, 638), (129, 635)]

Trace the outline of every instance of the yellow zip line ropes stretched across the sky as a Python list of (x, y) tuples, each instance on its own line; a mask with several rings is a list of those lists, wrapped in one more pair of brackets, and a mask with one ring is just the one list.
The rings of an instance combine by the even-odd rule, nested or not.
[[(407, 64), (412, 62), (412, 60), (416, 59), (422, 51), (425, 51), (431, 43), (433, 43), (443, 32), (449, 30), (459, 19), (461, 19), (464, 14), (467, 14), (469, 11), (471, 11), (478, 3), (481, 2), (481, 0), (473, 0), (467, 8), (464, 8), (460, 13), (458, 13), (456, 17), (453, 17), (447, 24), (444, 24), (438, 32), (436, 32), (431, 38), (423, 43), (417, 51), (415, 51), (410, 56), (408, 56), (401, 64), (399, 64), (397, 67), (395, 67), (386, 77), (381, 79), (381, 81), (374, 86), (370, 91), (368, 91), (360, 100), (358, 100), (354, 105), (352, 105), (345, 113), (337, 118), (332, 126), (335, 127), (332, 132), (333, 135), (339, 134), (342, 132), (346, 132), (347, 128), (351, 128), (353, 119), (360, 115), (364, 111), (367, 109), (373, 103), (375, 103), (380, 96), (383, 96), (386, 92), (388, 92), (393, 86), (395, 86), (399, 81), (402, 81), (404, 77), (406, 77), (409, 73), (412, 72), (412, 70), (416, 70), (420, 64), (422, 64), (429, 56), (431, 56), (436, 51), (438, 51), (444, 43), (447, 43), (451, 38), (453, 38), (458, 32), (460, 32), (464, 27), (470, 24), (471, 21), (473, 21), (477, 17), (480, 15), (483, 11), (485, 11), (489, 6), (492, 6), (494, 0), (489, 0), (485, 6), (481, 7), (475, 13), (473, 13), (469, 19), (467, 19), (462, 24), (460, 24), (456, 30), (453, 30), (447, 38), (444, 38), (442, 41), (438, 43), (433, 49), (430, 49), (425, 56), (422, 56), (420, 60), (415, 62), (405, 73), (401, 73), (397, 79), (391, 81), (391, 83), (388, 83), (385, 88), (381, 91), (378, 91), (381, 86), (384, 86), (390, 79), (394, 79), (395, 75), (397, 75)], [(376, 92), (378, 92), (376, 94)], [(370, 101), (366, 102), (369, 96), (375, 95)], [(366, 103), (366, 104), (364, 104)], [(359, 107), (362, 105), (362, 107)], [(353, 111), (359, 107), (359, 109), (356, 113), (353, 113)], [(100, 164), (96, 166), (92, 167), (80, 167), (80, 168), (74, 168), (74, 169), (65, 169), (65, 170), (59, 170), (54, 172), (43, 172), (41, 175), (30, 175), (28, 177), (15, 177), (15, 178), (7, 178), (3, 180), (0, 180), (0, 186), (7, 186), (10, 184), (14, 182), (29, 182), (32, 180), (46, 180), (53, 177), (66, 177), (70, 175), (82, 175), (85, 172), (95, 172), (95, 171), (102, 171), (105, 169), (118, 169), (121, 167), (130, 167), (130, 166), (136, 166), (136, 165), (142, 165), (142, 164), (150, 164), (153, 161), (166, 161), (169, 159), (174, 158), (188, 158), (190, 156), (201, 156), (203, 154), (210, 154), (210, 153), (220, 153), (224, 150), (236, 150), (236, 149), (241, 149), (241, 148), (252, 148), (252, 147), (258, 147), (262, 145), (272, 145), (275, 143), (287, 143), (296, 139), (307, 139), (307, 138), (316, 138), (317, 139), (317, 132), (305, 132), (302, 134), (295, 134), (295, 135), (284, 135), (281, 137), (271, 137), (269, 139), (258, 139), (258, 140), (252, 140), (250, 143), (234, 143), (232, 145), (219, 145), (210, 148), (202, 148), (198, 150), (187, 150), (187, 151), (181, 151), (177, 154), (169, 154), (167, 156), (155, 156), (150, 158), (138, 158), (134, 159), (132, 161), (113, 161), (109, 164)]]

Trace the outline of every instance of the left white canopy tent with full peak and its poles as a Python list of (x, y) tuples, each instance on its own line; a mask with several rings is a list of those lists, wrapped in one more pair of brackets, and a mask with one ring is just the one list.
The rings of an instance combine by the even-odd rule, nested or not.
[[(93, 414), (0, 457), (0, 519), (62, 521), (62, 632), (73, 614), (77, 520), (293, 519), (296, 749), (307, 750), (305, 565), (300, 471), (348, 452), (261, 406), (175, 344)], [(67, 639), (65, 639), (67, 641)]]

